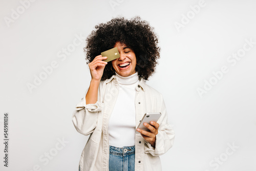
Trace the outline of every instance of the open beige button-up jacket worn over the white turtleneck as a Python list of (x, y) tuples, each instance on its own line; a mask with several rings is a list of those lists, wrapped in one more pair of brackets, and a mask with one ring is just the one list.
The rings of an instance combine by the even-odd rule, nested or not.
[[(80, 170), (109, 170), (109, 131), (108, 124), (118, 95), (116, 76), (100, 81), (98, 101), (86, 104), (85, 96), (76, 105), (72, 121), (76, 130), (90, 135), (80, 158)], [(156, 135), (156, 147), (144, 141), (140, 134), (135, 136), (135, 171), (157, 171), (161, 169), (159, 156), (166, 153), (174, 143), (174, 131), (168, 124), (167, 113), (162, 95), (140, 78), (135, 96), (136, 127), (147, 112), (161, 112), (160, 124)]]

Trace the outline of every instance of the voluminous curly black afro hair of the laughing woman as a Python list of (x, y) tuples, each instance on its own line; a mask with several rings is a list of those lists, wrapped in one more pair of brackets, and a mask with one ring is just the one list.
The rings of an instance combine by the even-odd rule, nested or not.
[[(136, 71), (140, 77), (148, 80), (154, 72), (160, 57), (158, 38), (154, 28), (148, 22), (135, 16), (130, 20), (116, 17), (108, 23), (95, 26), (94, 31), (87, 37), (87, 46), (83, 48), (87, 63), (100, 55), (101, 52), (114, 48), (116, 42), (131, 47), (136, 55)], [(115, 75), (112, 63), (105, 66), (101, 80), (109, 79)]]

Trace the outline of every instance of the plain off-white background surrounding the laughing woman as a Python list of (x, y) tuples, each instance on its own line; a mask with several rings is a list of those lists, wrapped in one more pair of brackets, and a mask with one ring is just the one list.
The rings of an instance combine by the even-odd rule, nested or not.
[[(112, 8), (111, 2), (118, 5)], [(99, 23), (139, 15), (159, 36), (161, 58), (147, 83), (163, 94), (176, 133), (174, 146), (161, 156), (163, 170), (255, 170), (256, 44), (236, 65), (227, 59), (243, 52), (246, 39), (256, 41), (256, 2), (205, 0), (193, 16), (190, 6), (198, 4), (37, 0), (25, 9), (17, 0), (1, 0), (0, 169), (78, 170), (88, 137), (75, 130), (71, 116), (91, 78), (84, 40)], [(16, 18), (15, 11), (20, 13)], [(182, 24), (183, 18), (184, 23), (187, 14), (188, 24), (177, 29), (175, 22)], [(15, 19), (6, 22), (12, 15)], [(75, 35), (84, 37), (82, 44), (66, 59), (58, 58), (62, 48), (72, 46)], [(52, 61), (58, 67), (30, 92), (27, 85), (34, 84)], [(222, 66), (228, 72), (213, 78), (212, 72)], [(210, 79), (218, 82), (200, 97), (197, 89)], [(5, 112), (10, 115), (8, 168), (3, 162)], [(64, 139), (65, 146), (58, 139)], [(46, 157), (49, 152), (51, 159)]]

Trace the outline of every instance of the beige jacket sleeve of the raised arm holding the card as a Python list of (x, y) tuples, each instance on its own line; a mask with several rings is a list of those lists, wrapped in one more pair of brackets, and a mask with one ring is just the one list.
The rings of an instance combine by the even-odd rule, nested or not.
[(77, 103), (72, 115), (72, 122), (78, 133), (85, 136), (93, 133), (97, 125), (98, 112), (102, 110), (102, 107), (103, 103), (99, 102), (99, 96), (95, 104), (86, 104), (86, 95), (84, 95), (82, 100)]

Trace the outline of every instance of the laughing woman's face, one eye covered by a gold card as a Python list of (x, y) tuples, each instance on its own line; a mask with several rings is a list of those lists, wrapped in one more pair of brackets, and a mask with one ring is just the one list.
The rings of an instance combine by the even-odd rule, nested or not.
[(116, 42), (114, 48), (117, 47), (120, 54), (120, 58), (112, 60), (112, 66), (117, 72), (117, 74), (127, 77), (136, 73), (136, 56), (134, 51), (126, 46), (125, 44), (120, 44)]

